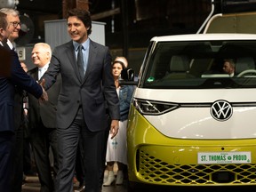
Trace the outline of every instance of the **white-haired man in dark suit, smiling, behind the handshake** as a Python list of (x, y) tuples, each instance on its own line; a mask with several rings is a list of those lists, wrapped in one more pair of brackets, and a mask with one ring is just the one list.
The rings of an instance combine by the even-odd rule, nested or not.
[[(31, 58), (36, 68), (28, 71), (28, 75), (39, 80), (49, 68), (52, 50), (49, 44), (34, 45)], [(28, 94), (28, 124), (35, 157), (36, 170), (41, 184), (41, 192), (54, 190), (52, 167), (50, 162), (50, 148), (53, 155), (53, 175), (58, 171), (57, 135), (56, 135), (56, 107), (60, 93), (61, 78), (57, 76), (56, 83), (47, 90), (48, 101), (39, 102)]]

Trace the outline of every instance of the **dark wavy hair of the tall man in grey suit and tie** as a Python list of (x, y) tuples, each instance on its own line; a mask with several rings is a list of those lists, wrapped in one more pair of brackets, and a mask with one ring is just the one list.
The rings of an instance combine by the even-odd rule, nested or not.
[(89, 36), (92, 33), (91, 13), (86, 10), (72, 9), (68, 11), (67, 19), (72, 16), (76, 16), (79, 20), (82, 20), (82, 22), (84, 23), (84, 26), (86, 28), (89, 28), (87, 30), (87, 34)]

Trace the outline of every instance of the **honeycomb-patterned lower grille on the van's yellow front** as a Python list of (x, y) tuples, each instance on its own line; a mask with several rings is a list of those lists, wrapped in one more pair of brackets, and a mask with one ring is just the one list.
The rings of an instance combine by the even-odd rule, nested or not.
[(141, 179), (159, 185), (256, 185), (256, 164), (168, 164), (140, 150)]

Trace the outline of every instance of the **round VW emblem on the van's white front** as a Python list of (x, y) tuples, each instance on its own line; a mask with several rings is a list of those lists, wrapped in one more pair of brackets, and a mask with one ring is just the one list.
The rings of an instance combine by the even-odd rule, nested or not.
[(212, 104), (211, 115), (217, 121), (227, 121), (233, 114), (233, 108), (227, 100), (217, 100)]

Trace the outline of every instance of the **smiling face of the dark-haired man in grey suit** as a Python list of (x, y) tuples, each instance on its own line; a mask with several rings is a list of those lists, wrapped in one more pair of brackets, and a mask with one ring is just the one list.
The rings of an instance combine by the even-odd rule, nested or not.
[(76, 16), (68, 17), (68, 34), (73, 41), (78, 44), (82, 44), (88, 38), (87, 30), (82, 20), (79, 20)]

